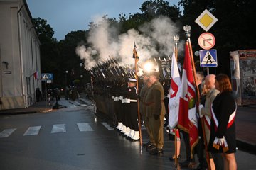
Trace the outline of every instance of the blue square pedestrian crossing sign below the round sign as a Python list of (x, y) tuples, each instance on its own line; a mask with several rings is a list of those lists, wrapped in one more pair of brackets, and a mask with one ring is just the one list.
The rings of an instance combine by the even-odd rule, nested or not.
[(217, 67), (217, 50), (199, 50), (201, 67)]

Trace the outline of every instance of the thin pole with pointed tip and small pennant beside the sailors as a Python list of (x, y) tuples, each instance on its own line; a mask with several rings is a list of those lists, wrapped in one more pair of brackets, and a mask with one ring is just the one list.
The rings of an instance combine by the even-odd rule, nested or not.
[[(134, 66), (135, 66), (136, 88), (137, 88), (137, 91), (139, 91), (139, 82), (138, 82), (138, 75), (137, 75), (137, 62), (139, 60), (139, 56), (137, 54), (135, 42), (134, 42), (133, 57), (135, 60)], [(141, 124), (140, 113), (139, 113), (139, 100), (137, 100), (137, 106), (138, 106), (138, 121), (139, 121), (139, 142), (140, 142), (140, 151), (142, 152), (142, 124)]]

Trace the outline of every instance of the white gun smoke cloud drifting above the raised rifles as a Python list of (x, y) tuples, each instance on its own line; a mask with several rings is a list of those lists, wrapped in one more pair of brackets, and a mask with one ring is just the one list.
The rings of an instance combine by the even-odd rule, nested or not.
[(116, 59), (120, 65), (134, 64), (132, 51), (136, 42), (139, 62), (152, 57), (170, 56), (174, 47), (174, 35), (178, 27), (169, 18), (161, 16), (145, 23), (137, 30), (131, 29), (119, 35), (118, 29), (111, 27), (106, 20), (100, 21), (95, 28), (90, 29), (87, 42), (90, 47), (79, 45), (76, 54), (85, 62), (85, 68), (95, 67), (108, 57)]

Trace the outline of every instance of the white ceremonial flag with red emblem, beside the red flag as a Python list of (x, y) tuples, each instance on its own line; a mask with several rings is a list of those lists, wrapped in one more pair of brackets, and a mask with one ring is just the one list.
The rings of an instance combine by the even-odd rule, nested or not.
[(178, 64), (175, 57), (175, 52), (171, 57), (171, 88), (169, 98), (169, 128), (173, 129), (178, 123), (178, 106), (181, 91), (178, 87), (181, 86), (181, 77), (178, 72)]

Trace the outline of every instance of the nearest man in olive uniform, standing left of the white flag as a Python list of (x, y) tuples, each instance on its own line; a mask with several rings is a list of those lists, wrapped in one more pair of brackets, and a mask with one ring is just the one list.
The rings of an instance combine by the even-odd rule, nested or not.
[(149, 88), (145, 96), (146, 115), (153, 135), (153, 146), (149, 154), (162, 155), (164, 147), (164, 88), (159, 82), (159, 72), (149, 72)]

